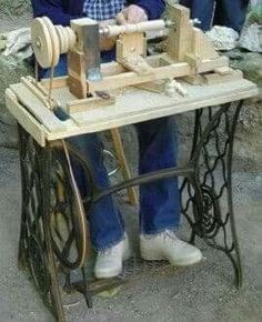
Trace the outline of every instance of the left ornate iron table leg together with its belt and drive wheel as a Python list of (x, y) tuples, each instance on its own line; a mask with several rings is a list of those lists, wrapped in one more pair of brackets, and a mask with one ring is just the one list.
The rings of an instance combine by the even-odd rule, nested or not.
[[(61, 145), (41, 148), (21, 127), (19, 137), (22, 188), (19, 266), (29, 270), (43, 302), (62, 322), (66, 319), (58, 275), (82, 269), (88, 230), (75, 203)], [(87, 281), (83, 292), (91, 305)]]

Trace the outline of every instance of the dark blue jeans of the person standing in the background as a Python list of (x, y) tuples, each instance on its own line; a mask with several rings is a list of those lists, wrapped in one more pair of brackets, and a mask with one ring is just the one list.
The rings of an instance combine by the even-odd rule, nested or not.
[(245, 20), (248, 0), (182, 0), (180, 4), (190, 8), (191, 18), (198, 18), (201, 21), (198, 27), (206, 31), (212, 24), (214, 2), (213, 24), (225, 26), (240, 32)]

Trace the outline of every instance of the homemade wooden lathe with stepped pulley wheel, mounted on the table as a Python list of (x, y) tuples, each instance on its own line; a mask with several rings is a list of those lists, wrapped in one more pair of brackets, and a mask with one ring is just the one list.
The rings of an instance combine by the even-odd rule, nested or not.
[[(168, 29), (167, 52), (148, 57), (145, 32)], [(42, 68), (56, 68), (60, 54), (68, 54), (68, 78), (44, 81), (46, 88), (69, 87), (80, 101), (67, 104), (71, 113), (103, 103), (101, 92), (141, 85), (155, 89), (155, 81), (184, 79), (189, 82), (215, 82), (240, 78), (229, 68), (226, 57), (220, 57), (203, 32), (193, 26), (190, 11), (181, 6), (170, 9), (168, 20), (153, 20), (125, 26), (100, 27), (88, 18), (71, 21), (71, 27), (53, 26), (47, 18), (37, 18), (31, 24), (32, 47)], [(117, 38), (117, 61), (100, 63), (100, 40)], [(23, 80), (26, 82), (26, 80)], [(30, 80), (28, 80), (30, 82)], [(44, 100), (39, 83), (29, 85)], [(41, 93), (40, 93), (41, 92)], [(88, 99), (87, 99), (88, 98)], [(107, 95), (105, 95), (107, 98)], [(46, 98), (47, 99), (47, 98)], [(112, 103), (113, 100), (105, 99)], [(56, 102), (50, 101), (51, 107)]]

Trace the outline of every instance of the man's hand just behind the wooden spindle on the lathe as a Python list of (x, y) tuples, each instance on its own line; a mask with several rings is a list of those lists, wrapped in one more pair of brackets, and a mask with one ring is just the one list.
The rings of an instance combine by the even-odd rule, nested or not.
[(148, 16), (145, 11), (135, 4), (129, 6), (117, 16), (117, 21), (119, 24), (138, 23), (147, 20)]

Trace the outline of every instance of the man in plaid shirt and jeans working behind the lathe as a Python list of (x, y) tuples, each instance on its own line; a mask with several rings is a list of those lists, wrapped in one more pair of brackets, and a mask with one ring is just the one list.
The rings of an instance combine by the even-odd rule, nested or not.
[[(53, 23), (67, 26), (70, 20), (89, 17), (104, 21), (118, 17), (122, 23), (140, 22), (160, 17), (162, 0), (32, 0), (34, 17), (48, 16)], [(112, 60), (112, 46), (101, 44), (103, 61)], [(104, 50), (107, 49), (107, 51)], [(56, 74), (67, 73), (63, 57)], [(47, 76), (47, 72), (46, 72)], [(139, 173), (177, 165), (177, 138), (172, 118), (162, 118), (135, 124), (139, 139)], [(70, 138), (69, 141), (89, 158), (99, 188), (107, 188), (108, 175), (103, 167), (102, 145), (95, 133)], [(74, 174), (81, 193), (88, 191), (82, 169), (74, 164)], [(121, 273), (122, 262), (130, 256), (128, 235), (122, 217), (111, 197), (103, 198), (88, 213), (90, 235), (98, 250), (94, 274), (112, 278)], [(195, 246), (179, 240), (174, 231), (180, 223), (177, 178), (140, 187), (140, 249), (145, 260), (169, 260), (174, 265), (189, 265), (201, 261)]]

